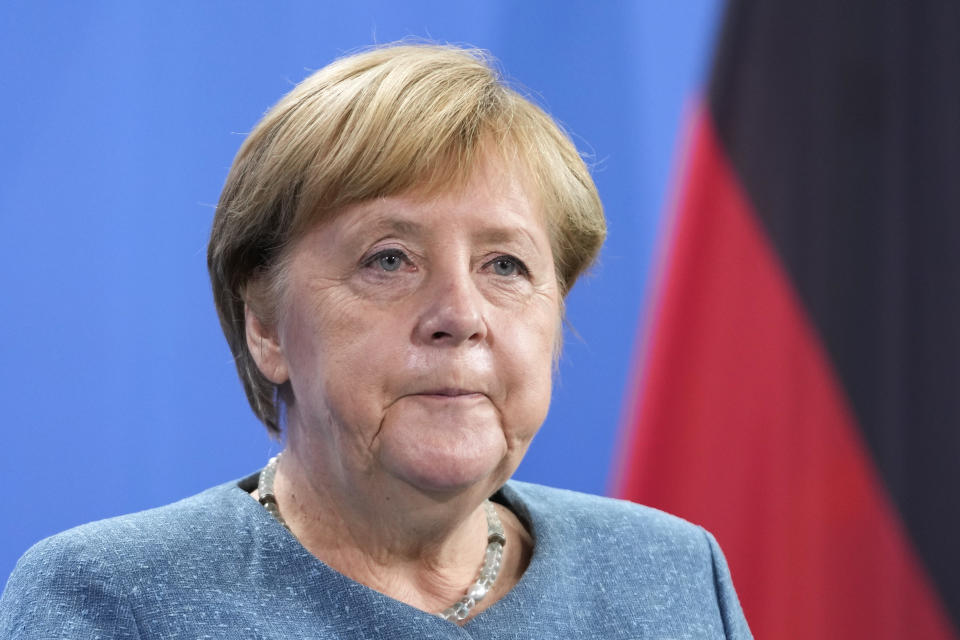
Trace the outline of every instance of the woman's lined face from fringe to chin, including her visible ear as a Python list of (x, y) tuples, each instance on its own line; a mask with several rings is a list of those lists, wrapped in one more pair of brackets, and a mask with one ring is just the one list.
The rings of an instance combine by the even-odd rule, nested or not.
[(560, 295), (515, 174), (348, 207), (293, 247), (276, 326), (248, 311), (261, 371), (292, 389), (289, 446), (332, 494), (485, 497), (545, 419)]

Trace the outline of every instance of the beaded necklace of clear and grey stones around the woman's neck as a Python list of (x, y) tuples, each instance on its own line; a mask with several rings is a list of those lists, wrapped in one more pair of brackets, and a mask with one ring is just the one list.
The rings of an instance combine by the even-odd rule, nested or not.
[[(279, 454), (270, 458), (267, 466), (260, 472), (257, 493), (260, 495), (260, 504), (270, 515), (276, 518), (277, 522), (286, 527), (287, 531), (290, 531), (289, 525), (280, 515), (277, 496), (273, 493), (273, 478), (277, 474), (277, 461), (279, 459)], [(473, 607), (490, 593), (493, 583), (497, 581), (497, 576), (500, 574), (503, 545), (507, 543), (507, 538), (503, 532), (503, 525), (500, 523), (500, 516), (497, 515), (493, 503), (484, 500), (483, 510), (487, 514), (487, 551), (483, 557), (483, 565), (480, 567), (477, 579), (470, 585), (464, 596), (437, 614), (444, 620), (465, 620)]]

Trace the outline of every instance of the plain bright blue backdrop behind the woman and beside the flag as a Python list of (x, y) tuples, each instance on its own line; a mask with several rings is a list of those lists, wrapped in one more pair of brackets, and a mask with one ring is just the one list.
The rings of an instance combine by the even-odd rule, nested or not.
[(518, 477), (603, 493), (718, 0), (0, 5), (0, 583), (32, 543), (258, 468), (205, 269), (243, 134), (311, 70), (418, 36), (489, 49), (595, 165), (610, 239), (568, 301)]

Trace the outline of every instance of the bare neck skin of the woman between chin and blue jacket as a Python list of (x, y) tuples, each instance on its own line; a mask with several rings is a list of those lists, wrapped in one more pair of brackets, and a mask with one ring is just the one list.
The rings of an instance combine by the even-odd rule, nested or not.
[[(433, 613), (474, 581), (487, 545), (482, 492), (428, 496), (413, 488), (344, 487), (288, 447), (274, 493), (291, 532), (349, 578)], [(477, 495), (472, 495), (477, 493)]]

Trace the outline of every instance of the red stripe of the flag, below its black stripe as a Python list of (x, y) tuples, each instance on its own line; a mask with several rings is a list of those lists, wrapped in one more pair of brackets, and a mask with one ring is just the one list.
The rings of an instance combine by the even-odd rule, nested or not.
[(758, 638), (956, 640), (705, 112), (617, 493), (712, 530)]

